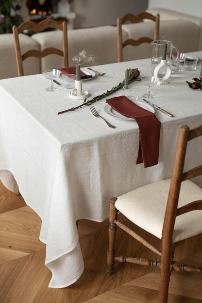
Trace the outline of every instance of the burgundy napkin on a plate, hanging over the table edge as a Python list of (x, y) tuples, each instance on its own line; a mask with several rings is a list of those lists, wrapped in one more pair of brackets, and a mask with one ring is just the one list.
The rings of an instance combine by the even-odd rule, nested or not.
[(119, 114), (134, 118), (139, 127), (139, 151), (136, 164), (144, 162), (144, 167), (158, 164), (161, 122), (148, 110), (136, 105), (125, 96), (107, 99)]

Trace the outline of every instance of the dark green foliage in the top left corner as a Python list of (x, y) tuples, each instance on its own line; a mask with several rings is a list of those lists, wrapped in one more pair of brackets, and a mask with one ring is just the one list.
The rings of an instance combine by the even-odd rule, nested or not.
[(0, 0), (0, 34), (12, 33), (13, 25), (19, 26), (23, 19), (18, 14), (18, 0)]

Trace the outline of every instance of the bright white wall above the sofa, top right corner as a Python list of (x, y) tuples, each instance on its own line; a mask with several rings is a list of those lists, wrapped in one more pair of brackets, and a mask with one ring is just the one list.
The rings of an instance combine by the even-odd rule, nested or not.
[(149, 0), (148, 8), (163, 7), (173, 11), (202, 17), (202, 0)]

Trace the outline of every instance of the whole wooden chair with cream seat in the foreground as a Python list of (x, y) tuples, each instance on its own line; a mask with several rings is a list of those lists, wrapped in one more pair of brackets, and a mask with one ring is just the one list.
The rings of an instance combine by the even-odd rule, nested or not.
[[(184, 171), (187, 142), (193, 144), (202, 135), (202, 125), (190, 130), (180, 128), (171, 179), (158, 181), (110, 200), (108, 274), (113, 274), (114, 260), (159, 267), (159, 303), (168, 302), (171, 270), (198, 271), (174, 261), (175, 243), (202, 233), (202, 188), (190, 178), (202, 175), (202, 165)], [(201, 142), (201, 141), (200, 141)], [(190, 147), (190, 146), (189, 146)], [(192, 148), (194, 151), (194, 149)], [(194, 202), (193, 202), (194, 200)], [(118, 211), (141, 229), (162, 240), (161, 250), (118, 221)], [(160, 261), (115, 255), (117, 226), (160, 256)], [(152, 242), (152, 241), (151, 241)]]

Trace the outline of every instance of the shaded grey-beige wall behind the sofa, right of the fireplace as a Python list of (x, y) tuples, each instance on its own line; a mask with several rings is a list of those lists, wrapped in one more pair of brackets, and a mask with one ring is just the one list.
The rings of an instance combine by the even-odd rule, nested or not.
[(148, 0), (74, 0), (70, 10), (76, 13), (74, 28), (115, 25), (127, 13), (139, 14), (147, 9)]

